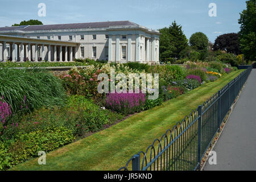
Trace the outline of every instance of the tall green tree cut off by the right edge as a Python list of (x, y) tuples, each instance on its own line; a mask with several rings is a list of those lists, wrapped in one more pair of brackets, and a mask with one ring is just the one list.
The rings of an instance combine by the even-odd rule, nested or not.
[(246, 60), (256, 61), (256, 0), (246, 1), (246, 10), (240, 13), (240, 49)]

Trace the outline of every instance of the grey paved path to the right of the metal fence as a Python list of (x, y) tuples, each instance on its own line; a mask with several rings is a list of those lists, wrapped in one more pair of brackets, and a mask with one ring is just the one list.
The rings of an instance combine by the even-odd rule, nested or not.
[(207, 162), (205, 171), (256, 170), (256, 69), (251, 71), (213, 151), (217, 164)]

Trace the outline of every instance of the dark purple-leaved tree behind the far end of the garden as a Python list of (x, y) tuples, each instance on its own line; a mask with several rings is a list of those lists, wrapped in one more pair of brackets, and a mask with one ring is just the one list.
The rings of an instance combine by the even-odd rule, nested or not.
[(241, 51), (238, 42), (238, 34), (230, 33), (218, 36), (215, 39), (213, 49), (214, 51), (221, 50), (228, 53), (234, 53), (235, 55), (239, 55)]

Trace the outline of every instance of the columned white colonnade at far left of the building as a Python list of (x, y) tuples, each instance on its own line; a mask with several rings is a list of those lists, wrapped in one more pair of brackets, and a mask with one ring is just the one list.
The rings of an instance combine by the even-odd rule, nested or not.
[(79, 43), (0, 35), (0, 61), (73, 61)]

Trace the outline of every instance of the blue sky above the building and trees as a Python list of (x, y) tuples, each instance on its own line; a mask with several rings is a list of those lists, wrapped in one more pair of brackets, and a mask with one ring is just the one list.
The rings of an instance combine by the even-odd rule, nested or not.
[[(211, 42), (218, 35), (238, 32), (238, 19), (246, 9), (245, 0), (22, 0), (1, 1), (0, 27), (22, 20), (39, 19), (43, 24), (130, 20), (147, 28), (181, 24), (187, 39), (203, 32)], [(38, 16), (38, 4), (46, 4), (46, 16)], [(216, 3), (217, 16), (208, 15), (209, 3)]]

